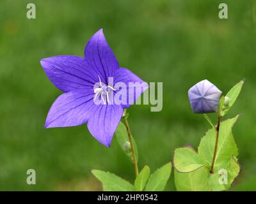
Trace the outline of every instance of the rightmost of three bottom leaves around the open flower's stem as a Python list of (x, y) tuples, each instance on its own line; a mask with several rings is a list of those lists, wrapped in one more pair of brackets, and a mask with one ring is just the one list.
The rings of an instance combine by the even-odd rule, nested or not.
[(148, 179), (145, 191), (163, 191), (172, 172), (172, 163), (167, 163), (156, 170)]

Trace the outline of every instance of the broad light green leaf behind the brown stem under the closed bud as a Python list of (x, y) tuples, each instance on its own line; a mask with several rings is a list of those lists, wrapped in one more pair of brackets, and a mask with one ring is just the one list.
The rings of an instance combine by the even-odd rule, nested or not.
[[(232, 156), (237, 156), (237, 146), (232, 134), (232, 127), (234, 126), (237, 115), (233, 119), (228, 119), (220, 124), (219, 142), (218, 149), (216, 153), (216, 160), (214, 164), (214, 173), (219, 168), (225, 168), (230, 162)], [(201, 139), (200, 145), (198, 147), (198, 154), (206, 163), (212, 163), (212, 157), (214, 153), (214, 147), (216, 142), (216, 130), (210, 129), (207, 131), (205, 136)]]

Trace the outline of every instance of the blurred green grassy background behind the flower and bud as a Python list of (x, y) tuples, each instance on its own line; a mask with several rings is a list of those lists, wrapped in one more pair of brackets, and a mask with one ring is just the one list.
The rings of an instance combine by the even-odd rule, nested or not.
[[(36, 4), (36, 19), (26, 5)], [(243, 113), (234, 135), (243, 170), (232, 189), (256, 190), (256, 2), (223, 1), (1, 1), (0, 8), (0, 190), (100, 190), (90, 170), (108, 170), (132, 181), (134, 169), (113, 138), (104, 147), (86, 125), (45, 129), (47, 112), (60, 94), (40, 59), (84, 53), (101, 27), (120, 66), (146, 82), (163, 82), (163, 110), (129, 108), (139, 166), (152, 171), (173, 151), (194, 147), (210, 128), (189, 106), (188, 89), (207, 78), (223, 93), (242, 78), (244, 89), (227, 117)], [(212, 119), (216, 115), (211, 115)], [(216, 121), (216, 120), (215, 120)], [(36, 185), (26, 171), (36, 170)], [(173, 173), (166, 190), (175, 190)]]

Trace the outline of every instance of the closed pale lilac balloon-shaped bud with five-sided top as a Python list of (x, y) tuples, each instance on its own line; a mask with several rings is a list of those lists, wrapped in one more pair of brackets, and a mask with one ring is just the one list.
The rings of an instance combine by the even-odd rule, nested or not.
[(188, 97), (195, 113), (217, 112), (221, 91), (208, 80), (202, 80), (191, 87)]

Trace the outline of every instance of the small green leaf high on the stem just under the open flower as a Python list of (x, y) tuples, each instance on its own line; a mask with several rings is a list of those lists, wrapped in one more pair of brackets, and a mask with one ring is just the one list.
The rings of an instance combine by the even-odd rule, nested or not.
[[(132, 158), (132, 152), (131, 149), (127, 148), (127, 144), (129, 144), (129, 137), (127, 134), (127, 130), (125, 128), (124, 123), (120, 122), (116, 132), (115, 132), (117, 141), (121, 147), (121, 149), (124, 151), (124, 153), (129, 157), (129, 160), (133, 163), (133, 158)], [(134, 152), (135, 152), (135, 157), (136, 157), (136, 162), (138, 163), (138, 147), (136, 145), (136, 142), (134, 138), (132, 138), (132, 143), (134, 147)]]

